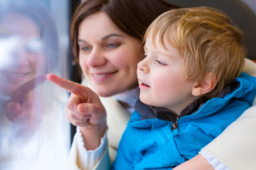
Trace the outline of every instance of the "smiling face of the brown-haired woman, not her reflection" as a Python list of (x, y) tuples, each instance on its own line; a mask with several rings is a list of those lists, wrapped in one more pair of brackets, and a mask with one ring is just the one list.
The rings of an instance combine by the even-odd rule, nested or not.
[(123, 33), (105, 13), (85, 18), (79, 27), (82, 72), (100, 96), (113, 96), (137, 86), (142, 41)]

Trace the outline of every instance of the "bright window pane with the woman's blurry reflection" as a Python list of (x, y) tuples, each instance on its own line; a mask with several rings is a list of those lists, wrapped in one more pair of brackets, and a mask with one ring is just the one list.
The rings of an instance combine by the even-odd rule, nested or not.
[(41, 4), (0, 0), (0, 169), (64, 169), (67, 94), (58, 74), (58, 37)]

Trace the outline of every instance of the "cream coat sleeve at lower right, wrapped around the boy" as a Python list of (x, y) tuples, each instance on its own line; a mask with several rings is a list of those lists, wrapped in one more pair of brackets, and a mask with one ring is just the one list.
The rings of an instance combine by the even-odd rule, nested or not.
[(248, 108), (202, 150), (228, 169), (256, 169), (256, 106)]

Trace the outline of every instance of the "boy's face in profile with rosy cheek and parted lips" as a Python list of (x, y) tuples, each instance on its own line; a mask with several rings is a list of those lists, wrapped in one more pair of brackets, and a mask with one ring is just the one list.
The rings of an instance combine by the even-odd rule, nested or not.
[(177, 115), (196, 100), (191, 94), (196, 82), (186, 79), (183, 59), (178, 50), (165, 42), (166, 49), (149, 36), (144, 45), (145, 58), (138, 64), (139, 98), (151, 106), (164, 107)]

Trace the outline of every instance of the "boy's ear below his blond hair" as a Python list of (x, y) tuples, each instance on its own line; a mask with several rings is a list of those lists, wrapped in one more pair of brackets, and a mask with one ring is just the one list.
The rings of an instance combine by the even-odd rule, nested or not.
[(215, 88), (216, 79), (217, 78), (215, 74), (210, 72), (206, 73), (203, 81), (196, 83), (195, 86), (193, 86), (193, 96), (203, 96), (204, 94), (207, 94), (208, 92), (213, 90)]

